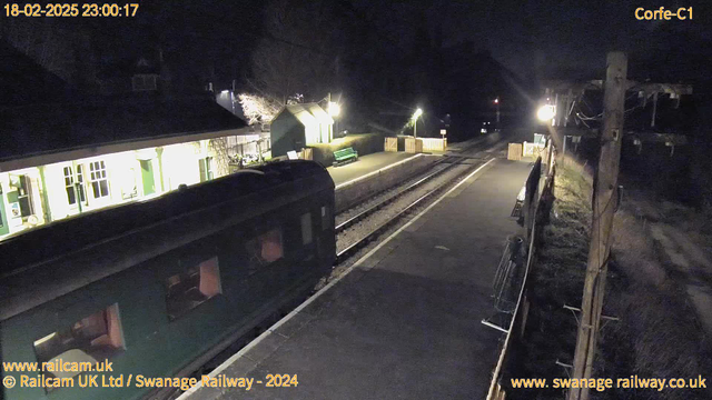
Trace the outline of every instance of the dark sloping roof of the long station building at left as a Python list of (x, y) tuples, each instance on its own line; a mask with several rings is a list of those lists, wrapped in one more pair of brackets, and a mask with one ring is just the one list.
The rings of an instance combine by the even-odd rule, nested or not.
[(0, 164), (116, 143), (137, 142), (136, 148), (141, 148), (146, 140), (246, 127), (209, 98), (100, 99), (0, 108)]

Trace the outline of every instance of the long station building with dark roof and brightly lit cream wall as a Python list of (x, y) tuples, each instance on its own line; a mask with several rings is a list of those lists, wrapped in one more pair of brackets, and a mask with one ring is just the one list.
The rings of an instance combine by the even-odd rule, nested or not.
[(206, 98), (30, 104), (0, 121), (0, 240), (225, 176), (255, 139)]

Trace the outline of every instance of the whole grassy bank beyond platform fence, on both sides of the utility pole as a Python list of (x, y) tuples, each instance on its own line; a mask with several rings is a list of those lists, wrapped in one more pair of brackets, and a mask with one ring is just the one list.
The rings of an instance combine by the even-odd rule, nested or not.
[[(567, 378), (556, 361), (572, 363), (576, 320), (589, 251), (592, 179), (584, 167), (560, 163), (551, 223), (544, 228), (530, 281), (532, 302), (523, 343), (515, 349), (515, 378)], [(709, 220), (708, 220), (709, 221)], [(699, 222), (695, 222), (699, 223)], [(599, 334), (594, 377), (712, 378), (712, 348), (682, 282), (664, 268), (645, 221), (625, 206), (614, 219), (603, 313), (620, 318)], [(712, 384), (708, 384), (712, 387)], [(510, 390), (507, 399), (564, 399), (562, 390)], [(592, 399), (712, 399), (704, 389), (592, 391)]]

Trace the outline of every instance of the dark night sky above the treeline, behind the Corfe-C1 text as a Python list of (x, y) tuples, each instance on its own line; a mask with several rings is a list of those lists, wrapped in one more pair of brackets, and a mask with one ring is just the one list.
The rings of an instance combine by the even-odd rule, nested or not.
[[(431, 27), (442, 26), (448, 41), (474, 40), (505, 67), (523, 77), (546, 76), (557, 70), (601, 74), (605, 52), (629, 51), (630, 58), (661, 56), (682, 46), (689, 54), (712, 57), (712, 23), (709, 2), (694, 1), (415, 1), (372, 7), (373, 18), (394, 37), (416, 23), (424, 11)], [(693, 7), (693, 21), (639, 21), (639, 7), (656, 9)], [(383, 8), (394, 12), (383, 12)], [(397, 17), (394, 17), (397, 16)], [(412, 31), (412, 30), (411, 30)], [(706, 48), (703, 42), (706, 42)]]

